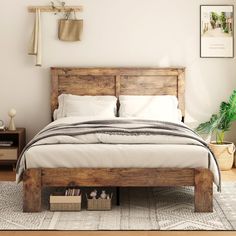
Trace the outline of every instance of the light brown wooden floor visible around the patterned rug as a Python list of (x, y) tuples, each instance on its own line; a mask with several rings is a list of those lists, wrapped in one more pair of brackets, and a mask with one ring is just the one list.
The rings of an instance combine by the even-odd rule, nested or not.
[[(236, 168), (222, 171), (223, 181), (236, 181)], [(0, 181), (14, 181), (11, 167), (0, 167)], [(236, 236), (235, 232), (222, 231), (0, 231), (0, 236)]]

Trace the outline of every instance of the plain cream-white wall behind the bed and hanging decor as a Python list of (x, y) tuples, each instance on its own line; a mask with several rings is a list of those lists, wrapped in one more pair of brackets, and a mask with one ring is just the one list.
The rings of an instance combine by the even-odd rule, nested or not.
[[(236, 59), (199, 58), (200, 4), (234, 0), (80, 0), (83, 40), (57, 40), (57, 16), (44, 13), (43, 67), (27, 55), (33, 26), (28, 5), (47, 0), (1, 0), (0, 119), (17, 110), (16, 124), (28, 140), (50, 122), (51, 66), (185, 66), (186, 121), (204, 121), (236, 88)], [(236, 126), (234, 131), (236, 130)], [(232, 130), (228, 139), (236, 141)]]

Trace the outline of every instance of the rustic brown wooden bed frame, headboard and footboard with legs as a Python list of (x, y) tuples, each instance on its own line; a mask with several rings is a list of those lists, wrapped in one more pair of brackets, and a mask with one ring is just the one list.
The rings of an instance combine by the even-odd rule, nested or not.
[[(184, 116), (184, 68), (51, 68), (51, 110), (61, 93), (176, 95)], [(191, 157), (190, 157), (191, 158)], [(23, 176), (24, 212), (41, 210), (43, 187), (194, 186), (195, 212), (213, 211), (213, 174), (193, 168), (37, 168)]]

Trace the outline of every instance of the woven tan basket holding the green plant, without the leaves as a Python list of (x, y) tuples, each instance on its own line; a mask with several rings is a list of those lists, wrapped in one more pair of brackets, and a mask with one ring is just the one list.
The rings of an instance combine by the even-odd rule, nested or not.
[(208, 146), (214, 153), (220, 170), (231, 170), (234, 163), (234, 144), (230, 142), (224, 142), (223, 144), (211, 142)]

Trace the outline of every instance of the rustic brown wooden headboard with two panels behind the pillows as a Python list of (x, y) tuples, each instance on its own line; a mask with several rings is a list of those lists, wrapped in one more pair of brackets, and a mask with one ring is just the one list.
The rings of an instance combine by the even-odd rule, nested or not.
[(75, 95), (175, 95), (185, 114), (184, 68), (51, 68), (51, 111), (62, 93)]

